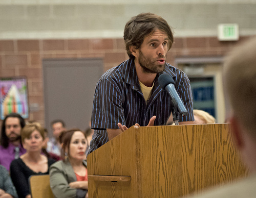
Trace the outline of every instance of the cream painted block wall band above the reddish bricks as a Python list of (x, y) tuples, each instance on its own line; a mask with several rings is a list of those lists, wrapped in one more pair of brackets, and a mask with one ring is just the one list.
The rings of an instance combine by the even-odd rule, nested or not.
[(217, 36), (219, 23), (255, 34), (256, 0), (0, 0), (0, 39), (116, 38), (141, 12), (163, 16), (176, 36)]

